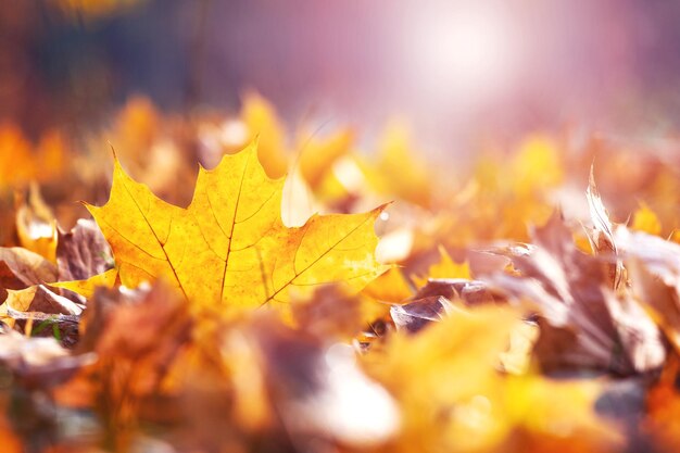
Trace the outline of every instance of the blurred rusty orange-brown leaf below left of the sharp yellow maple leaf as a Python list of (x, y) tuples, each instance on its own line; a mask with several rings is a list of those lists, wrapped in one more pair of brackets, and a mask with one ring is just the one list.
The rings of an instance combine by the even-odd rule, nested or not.
[[(118, 451), (128, 451), (140, 419), (161, 424), (180, 417), (169, 375), (190, 343), (192, 322), (182, 302), (163, 285), (134, 291), (101, 288), (89, 301), (79, 351), (99, 360), (67, 382), (60, 398), (96, 408)], [(75, 401), (74, 392), (79, 393)]]

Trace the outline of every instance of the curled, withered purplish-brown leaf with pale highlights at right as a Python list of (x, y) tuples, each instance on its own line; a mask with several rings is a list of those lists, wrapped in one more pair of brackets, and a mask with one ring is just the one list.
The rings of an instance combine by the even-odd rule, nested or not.
[[(536, 349), (543, 366), (626, 375), (660, 365), (665, 352), (658, 330), (632, 300), (620, 301), (612, 293), (603, 270), (607, 263), (576, 248), (561, 214), (534, 229), (528, 253), (514, 250), (499, 253), (511, 257), (520, 276), (498, 274), (490, 280), (511, 300), (537, 305), (544, 318)], [(631, 324), (631, 316), (638, 322)]]

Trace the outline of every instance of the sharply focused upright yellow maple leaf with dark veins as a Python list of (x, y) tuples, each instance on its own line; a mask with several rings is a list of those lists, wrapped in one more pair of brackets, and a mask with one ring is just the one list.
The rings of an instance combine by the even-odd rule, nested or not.
[(287, 228), (282, 186), (267, 177), (253, 142), (214, 169), (201, 168), (187, 209), (155, 197), (117, 160), (109, 202), (87, 207), (113, 249), (123, 285), (162, 277), (194, 306), (288, 303), (291, 289), (344, 282), (358, 290), (380, 275), (374, 221), (385, 206), (314, 215)]

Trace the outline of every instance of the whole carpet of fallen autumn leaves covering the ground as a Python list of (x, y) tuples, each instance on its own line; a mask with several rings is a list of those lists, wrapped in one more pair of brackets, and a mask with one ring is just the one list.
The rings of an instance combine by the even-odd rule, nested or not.
[(360, 134), (0, 126), (1, 451), (675, 452), (677, 139)]

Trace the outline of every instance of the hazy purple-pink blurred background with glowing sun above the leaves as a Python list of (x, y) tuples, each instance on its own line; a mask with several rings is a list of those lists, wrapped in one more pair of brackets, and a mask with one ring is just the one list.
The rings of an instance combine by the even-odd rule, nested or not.
[(105, 123), (133, 95), (166, 112), (287, 122), (394, 115), (433, 154), (585, 126), (668, 134), (680, 108), (680, 3), (663, 0), (3, 0), (0, 121), (37, 137)]

